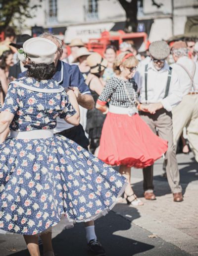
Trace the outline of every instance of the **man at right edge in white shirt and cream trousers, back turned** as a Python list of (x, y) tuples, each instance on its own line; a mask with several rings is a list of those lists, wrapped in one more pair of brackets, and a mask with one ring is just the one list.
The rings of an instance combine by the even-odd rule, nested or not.
[(178, 74), (183, 96), (180, 104), (172, 110), (173, 142), (176, 146), (186, 127), (191, 150), (198, 162), (198, 63), (188, 58), (187, 45), (183, 41), (175, 42), (171, 51), (175, 61), (171, 67)]

